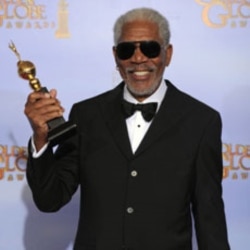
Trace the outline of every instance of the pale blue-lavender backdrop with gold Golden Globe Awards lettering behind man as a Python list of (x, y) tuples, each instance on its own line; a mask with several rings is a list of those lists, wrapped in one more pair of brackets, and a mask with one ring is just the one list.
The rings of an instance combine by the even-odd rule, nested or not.
[(233, 250), (250, 247), (250, 2), (248, 0), (0, 0), (0, 249), (72, 249), (78, 193), (60, 212), (33, 204), (25, 178), (31, 89), (17, 75), (13, 41), (66, 108), (113, 88), (113, 23), (134, 7), (170, 21), (173, 60), (165, 77), (217, 109), (223, 120), (224, 200)]

